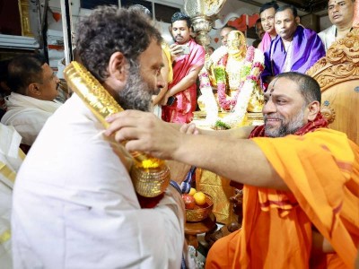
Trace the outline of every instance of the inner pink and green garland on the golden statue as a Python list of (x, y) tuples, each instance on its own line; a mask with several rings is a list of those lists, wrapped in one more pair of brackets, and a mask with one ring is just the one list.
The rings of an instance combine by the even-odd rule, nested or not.
[(228, 98), (225, 94), (227, 88), (225, 66), (227, 65), (228, 54), (226, 56), (223, 56), (223, 58), (219, 62), (219, 65), (215, 67), (215, 78), (217, 79), (218, 100), (221, 108), (223, 108), (224, 110), (232, 110), (232, 108), (234, 108), (235, 105), (237, 104), (238, 95), (241, 92), (241, 88), (243, 87), (245, 78), (247, 77), (248, 74), (250, 74), (250, 70), (254, 59), (254, 52), (255, 52), (255, 48), (253, 47), (248, 48), (245, 58), (245, 63), (241, 71), (241, 78), (240, 78), (241, 82), (240, 85), (238, 86), (238, 91), (236, 91), (236, 93), (232, 98)]

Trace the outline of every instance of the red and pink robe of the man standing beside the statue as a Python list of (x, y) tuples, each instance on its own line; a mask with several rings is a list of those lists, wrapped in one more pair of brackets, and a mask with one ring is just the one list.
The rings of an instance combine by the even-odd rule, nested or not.
[[(189, 54), (177, 57), (173, 67), (173, 81), (169, 90), (179, 83), (196, 67), (205, 64), (205, 48), (193, 39), (188, 41)], [(162, 106), (162, 119), (167, 122), (189, 123), (193, 119), (193, 111), (197, 108), (197, 84), (193, 83), (188, 89), (175, 94), (176, 101), (171, 106)]]

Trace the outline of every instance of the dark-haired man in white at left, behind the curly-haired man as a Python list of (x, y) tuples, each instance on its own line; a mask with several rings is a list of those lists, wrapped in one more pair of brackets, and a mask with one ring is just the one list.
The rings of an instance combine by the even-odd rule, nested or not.
[(22, 143), (34, 143), (42, 126), (60, 103), (57, 97), (59, 80), (41, 56), (18, 56), (8, 65), (6, 113), (1, 122), (13, 126), (22, 135)]

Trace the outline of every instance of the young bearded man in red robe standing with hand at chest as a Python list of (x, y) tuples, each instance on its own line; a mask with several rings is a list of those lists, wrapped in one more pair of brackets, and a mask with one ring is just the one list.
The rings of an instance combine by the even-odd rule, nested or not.
[[(188, 123), (197, 108), (197, 76), (205, 64), (205, 48), (190, 37), (191, 22), (185, 13), (172, 16), (172, 36), (176, 43), (170, 46), (173, 57), (173, 81), (164, 97), (162, 119), (167, 122)], [(170, 100), (171, 100), (170, 99)]]

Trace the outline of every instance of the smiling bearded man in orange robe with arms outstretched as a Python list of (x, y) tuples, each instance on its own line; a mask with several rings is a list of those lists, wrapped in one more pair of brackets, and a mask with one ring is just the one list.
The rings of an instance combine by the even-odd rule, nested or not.
[(254, 129), (205, 132), (191, 124), (181, 133), (151, 114), (125, 111), (109, 118), (106, 134), (129, 140), (127, 150), (244, 184), (242, 228), (215, 242), (206, 268), (352, 268), (359, 246), (358, 145), (328, 129), (320, 85), (305, 74), (277, 75), (263, 114), (265, 125)]

